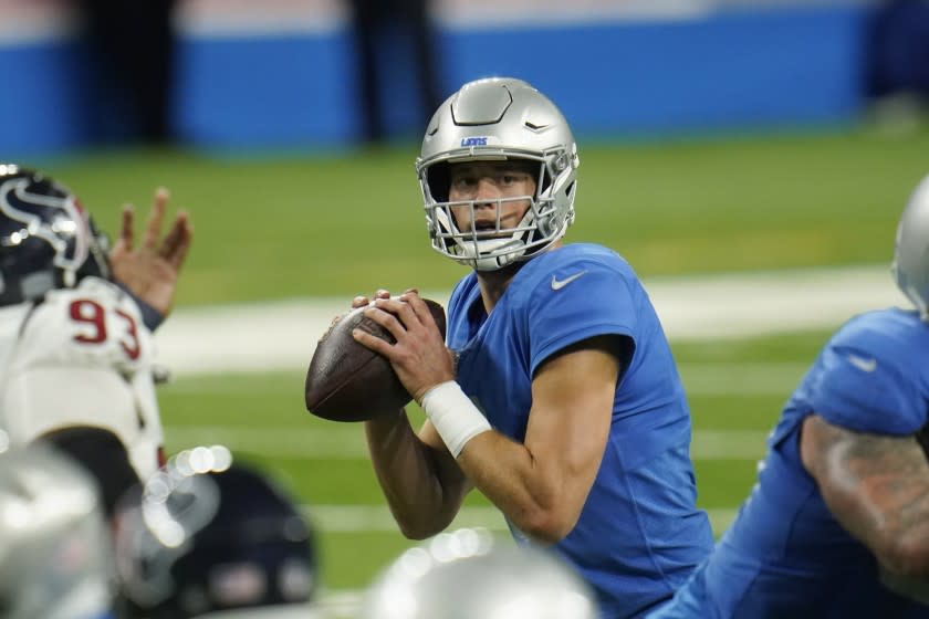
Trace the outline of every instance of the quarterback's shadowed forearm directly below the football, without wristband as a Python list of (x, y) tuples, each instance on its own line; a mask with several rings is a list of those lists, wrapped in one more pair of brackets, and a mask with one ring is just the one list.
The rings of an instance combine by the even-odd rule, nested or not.
[(445, 529), (463, 495), (441, 462), (443, 457), (451, 460), (448, 453), (420, 440), (403, 410), (397, 418), (366, 421), (365, 437), (377, 481), (404, 535), (422, 539)]

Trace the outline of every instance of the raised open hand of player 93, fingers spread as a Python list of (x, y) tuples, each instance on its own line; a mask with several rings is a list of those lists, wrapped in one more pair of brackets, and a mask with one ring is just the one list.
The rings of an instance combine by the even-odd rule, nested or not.
[(145, 237), (138, 248), (135, 246), (135, 209), (132, 204), (124, 206), (119, 240), (109, 253), (113, 277), (163, 316), (174, 307), (177, 277), (194, 238), (194, 228), (185, 211), (177, 213), (168, 233), (160, 238), (169, 197), (164, 187), (155, 191)]

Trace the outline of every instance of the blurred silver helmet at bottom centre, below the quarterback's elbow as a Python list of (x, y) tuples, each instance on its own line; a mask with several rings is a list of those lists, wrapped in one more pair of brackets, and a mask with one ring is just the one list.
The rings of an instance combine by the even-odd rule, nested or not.
[(483, 529), (443, 533), (375, 581), (362, 619), (596, 619), (594, 594), (555, 555), (497, 545)]

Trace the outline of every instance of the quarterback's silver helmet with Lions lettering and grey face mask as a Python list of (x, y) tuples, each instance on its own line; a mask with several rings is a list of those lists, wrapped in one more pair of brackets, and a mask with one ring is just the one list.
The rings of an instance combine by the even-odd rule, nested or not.
[[(451, 207), (473, 209), (474, 201), (449, 201), (449, 166), (505, 159), (539, 164), (535, 196), (507, 199), (529, 200), (525, 216), (501, 229), (499, 200), (495, 230), (459, 229)], [(578, 164), (567, 122), (542, 93), (510, 77), (464, 84), (436, 111), (416, 160), (432, 248), (479, 271), (532, 258), (574, 221)]]

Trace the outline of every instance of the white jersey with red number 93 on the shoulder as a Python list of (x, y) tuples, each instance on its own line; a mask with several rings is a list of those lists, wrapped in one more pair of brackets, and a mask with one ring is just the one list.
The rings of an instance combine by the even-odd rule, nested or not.
[(0, 428), (12, 444), (74, 426), (109, 430), (144, 480), (164, 442), (153, 356), (135, 301), (100, 277), (0, 307)]

